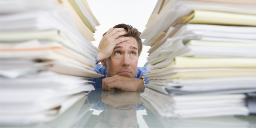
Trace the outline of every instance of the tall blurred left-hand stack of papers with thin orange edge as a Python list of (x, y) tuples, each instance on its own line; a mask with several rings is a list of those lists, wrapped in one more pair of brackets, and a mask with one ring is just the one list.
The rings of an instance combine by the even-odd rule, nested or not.
[(85, 0), (0, 5), (1, 125), (50, 121), (94, 90), (99, 23)]

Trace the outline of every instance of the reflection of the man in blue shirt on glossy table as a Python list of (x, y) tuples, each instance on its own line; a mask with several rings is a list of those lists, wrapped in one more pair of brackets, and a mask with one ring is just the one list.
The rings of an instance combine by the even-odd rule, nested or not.
[[(137, 110), (140, 105), (140, 92), (93, 90), (88, 94), (88, 102), (94, 103), (93, 109), (103, 110), (100, 121), (95, 127), (137, 127)], [(103, 105), (104, 103), (104, 105)]]

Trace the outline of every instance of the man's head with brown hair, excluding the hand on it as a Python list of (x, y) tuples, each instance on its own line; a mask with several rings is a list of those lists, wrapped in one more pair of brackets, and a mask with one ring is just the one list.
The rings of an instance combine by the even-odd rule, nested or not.
[(119, 24), (113, 28), (126, 29), (128, 32), (124, 36), (130, 38), (117, 44), (113, 49), (112, 55), (102, 61), (102, 65), (107, 68), (108, 77), (119, 75), (134, 78), (137, 74), (138, 59), (142, 51), (140, 32), (131, 25), (126, 24)]

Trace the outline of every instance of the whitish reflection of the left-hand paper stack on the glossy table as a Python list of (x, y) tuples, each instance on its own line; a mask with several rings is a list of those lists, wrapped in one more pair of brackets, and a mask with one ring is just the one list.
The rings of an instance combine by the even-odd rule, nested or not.
[[(93, 111), (89, 111), (89, 109), (93, 106), (93, 104), (84, 104), (87, 100), (87, 93), (77, 93), (63, 102), (61, 102), (60, 109), (56, 109), (58, 111), (55, 115), (44, 115), (42, 117), (43, 121), (40, 121), (36, 124), (24, 124), (23, 127), (56, 127), (56, 128), (67, 128), (67, 127), (83, 127), (87, 120), (92, 115)], [(43, 114), (42, 114), (43, 115)], [(32, 115), (34, 116), (34, 115)], [(31, 120), (31, 119), (30, 119)], [(3, 127), (7, 125), (1, 125)], [(8, 127), (15, 127), (17, 124), (8, 125)]]

